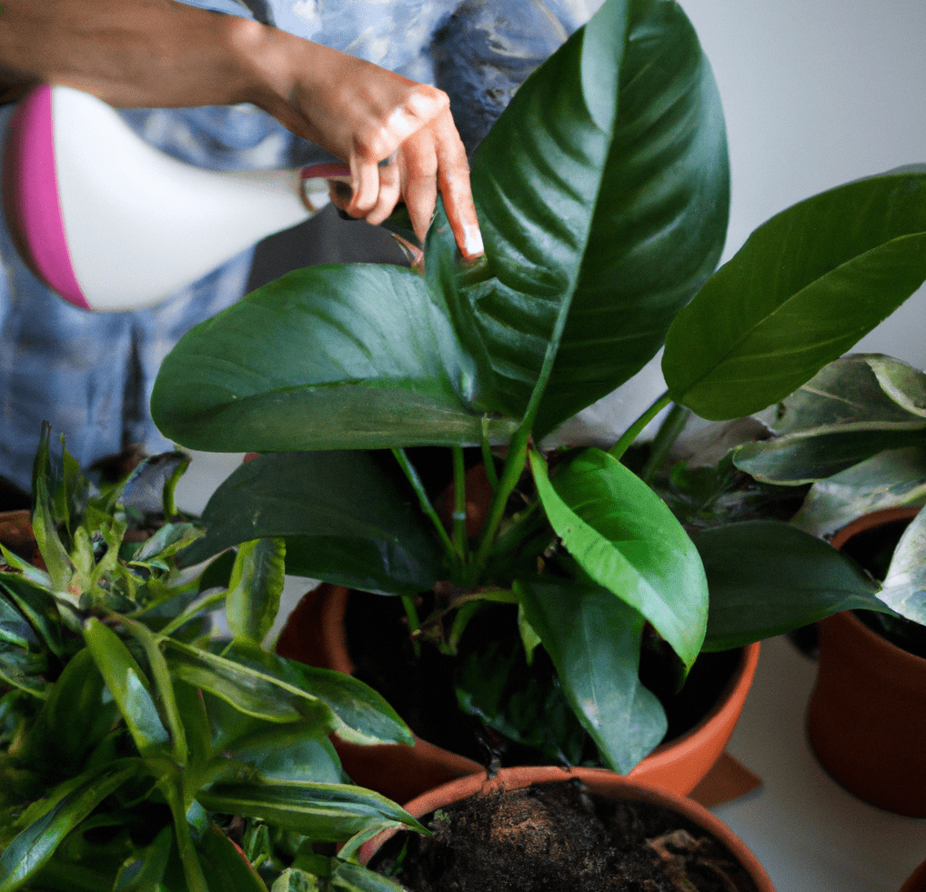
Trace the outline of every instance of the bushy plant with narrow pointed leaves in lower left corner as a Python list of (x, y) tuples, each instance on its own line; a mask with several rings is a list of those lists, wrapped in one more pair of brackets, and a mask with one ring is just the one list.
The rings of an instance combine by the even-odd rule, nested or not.
[[(0, 572), (0, 888), (259, 892), (299, 869), (318, 888), (394, 892), (352, 850), (418, 824), (352, 785), (325, 736), (407, 729), (355, 680), (261, 650), (280, 543), (177, 570), (199, 535), (172, 510), (187, 463), (156, 456), (101, 492), (67, 452), (52, 461), (44, 431), (39, 560), (4, 547)], [(219, 606), (228, 640), (209, 634)]]

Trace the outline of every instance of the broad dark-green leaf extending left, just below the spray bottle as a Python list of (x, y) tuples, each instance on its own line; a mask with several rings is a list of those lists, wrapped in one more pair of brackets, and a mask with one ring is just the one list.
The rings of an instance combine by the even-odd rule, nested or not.
[(213, 452), (478, 443), (478, 393), (418, 275), (311, 266), (190, 331), (161, 365), (151, 410), (166, 436)]

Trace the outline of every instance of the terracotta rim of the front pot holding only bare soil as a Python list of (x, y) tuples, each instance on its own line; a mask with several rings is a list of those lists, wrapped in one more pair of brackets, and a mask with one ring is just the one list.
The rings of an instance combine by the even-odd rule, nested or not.
[[(769, 874), (765, 872), (756, 856), (746, 848), (745, 843), (736, 836), (732, 830), (723, 824), (706, 808), (669, 790), (660, 789), (649, 784), (642, 784), (628, 777), (621, 777), (614, 772), (602, 768), (572, 768), (562, 769), (553, 766), (503, 768), (491, 780), (486, 774), (470, 774), (428, 790), (419, 797), (412, 799), (405, 806), (406, 810), (417, 818), (430, 814), (439, 808), (466, 799), (481, 792), (488, 792), (498, 788), (518, 789), (528, 787), (535, 783), (555, 783), (579, 777), (593, 792), (615, 799), (630, 799), (635, 802), (646, 802), (652, 805), (667, 808), (683, 815), (695, 824), (703, 827), (707, 833), (719, 840), (727, 849), (730, 849), (737, 861), (742, 864), (749, 874), (758, 892), (774, 892)], [(360, 861), (366, 864), (390, 836), (395, 833), (385, 831), (374, 836), (360, 849)]]

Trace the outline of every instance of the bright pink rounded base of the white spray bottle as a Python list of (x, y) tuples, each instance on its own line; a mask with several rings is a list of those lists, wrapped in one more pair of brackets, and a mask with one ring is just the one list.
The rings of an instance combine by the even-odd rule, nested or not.
[(27, 263), (46, 285), (83, 310), (88, 303), (74, 273), (58, 200), (52, 89), (37, 87), (20, 103), (6, 137), (6, 174)]

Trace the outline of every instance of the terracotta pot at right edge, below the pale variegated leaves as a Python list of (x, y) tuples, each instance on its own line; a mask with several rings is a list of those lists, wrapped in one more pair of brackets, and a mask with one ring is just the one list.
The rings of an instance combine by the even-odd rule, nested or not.
[[(915, 510), (875, 512), (833, 539), (910, 519)], [(926, 660), (896, 647), (851, 611), (818, 624), (820, 663), (807, 707), (810, 743), (839, 784), (888, 811), (926, 817)]]

